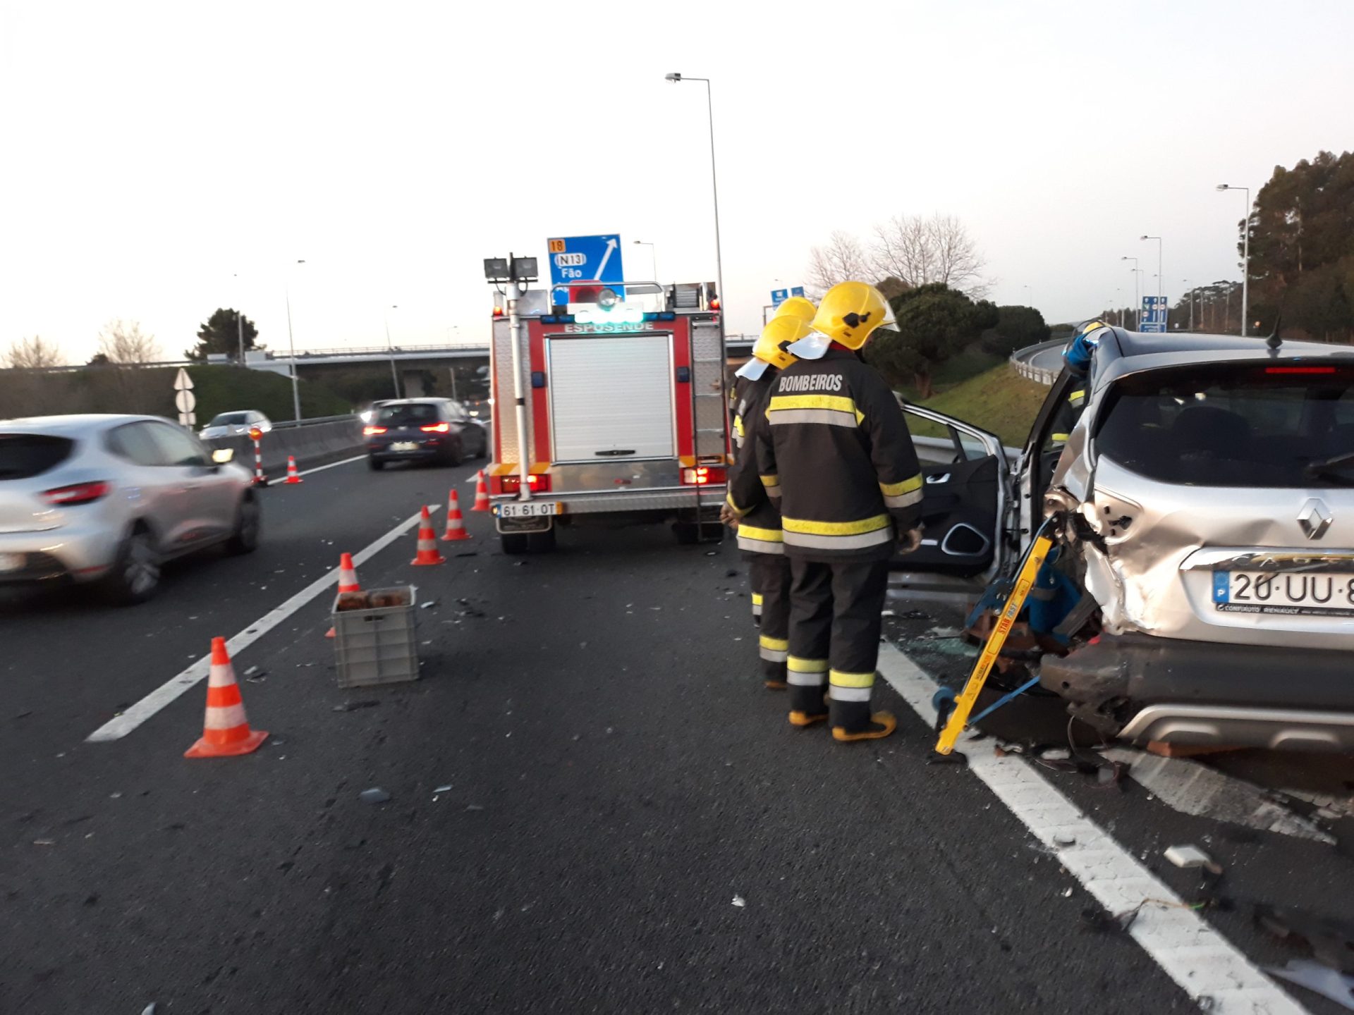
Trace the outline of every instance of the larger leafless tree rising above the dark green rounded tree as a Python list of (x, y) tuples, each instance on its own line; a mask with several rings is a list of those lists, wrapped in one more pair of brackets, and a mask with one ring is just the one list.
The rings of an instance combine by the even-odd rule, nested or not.
[(955, 215), (894, 215), (875, 226), (869, 257), (876, 277), (892, 276), (909, 286), (942, 281), (972, 299), (991, 288), (983, 279), (983, 256)]

